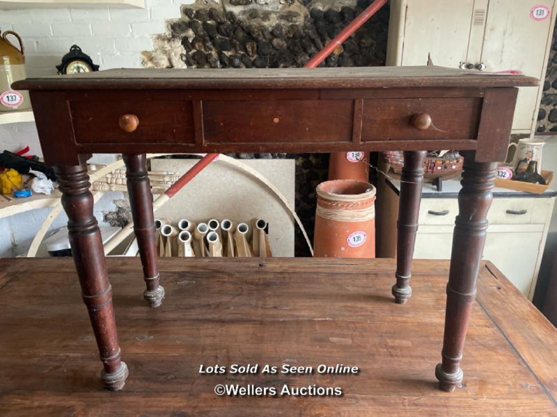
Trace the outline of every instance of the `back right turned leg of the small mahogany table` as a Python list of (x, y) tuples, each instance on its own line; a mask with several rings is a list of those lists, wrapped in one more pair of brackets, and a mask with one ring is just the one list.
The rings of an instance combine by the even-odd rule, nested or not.
[(408, 285), (412, 272), (414, 242), (418, 230), (419, 203), (422, 200), (423, 161), (426, 151), (404, 151), (404, 167), (400, 176), (397, 222), (397, 284), (393, 285), (394, 301), (404, 304), (412, 295)]

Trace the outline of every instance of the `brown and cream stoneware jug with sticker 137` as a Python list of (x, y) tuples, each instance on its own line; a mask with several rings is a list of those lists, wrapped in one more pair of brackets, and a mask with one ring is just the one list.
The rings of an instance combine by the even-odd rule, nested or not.
[[(8, 41), (8, 35), (13, 35), (19, 42), (19, 48)], [(12, 83), (24, 80), (25, 49), (21, 37), (16, 32), (6, 31), (0, 36), (0, 112), (28, 110), (31, 107), (27, 91), (12, 89)]]

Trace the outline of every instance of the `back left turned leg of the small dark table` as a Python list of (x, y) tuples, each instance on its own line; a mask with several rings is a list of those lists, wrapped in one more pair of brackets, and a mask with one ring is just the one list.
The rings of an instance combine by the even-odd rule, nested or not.
[(131, 215), (134, 233), (138, 240), (139, 256), (143, 264), (143, 277), (147, 286), (143, 297), (152, 307), (158, 307), (164, 299), (164, 287), (159, 285), (157, 266), (157, 241), (153, 218), (153, 194), (147, 175), (145, 153), (124, 154)]

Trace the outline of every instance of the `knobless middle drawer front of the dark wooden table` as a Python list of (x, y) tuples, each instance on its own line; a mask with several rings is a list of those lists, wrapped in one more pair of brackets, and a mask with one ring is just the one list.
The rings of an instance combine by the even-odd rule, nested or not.
[(352, 100), (203, 101), (206, 143), (350, 142)]

